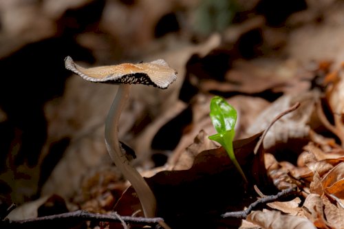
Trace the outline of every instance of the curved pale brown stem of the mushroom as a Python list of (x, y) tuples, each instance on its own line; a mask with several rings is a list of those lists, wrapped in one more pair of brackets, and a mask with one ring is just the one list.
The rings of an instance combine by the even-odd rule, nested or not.
[(136, 190), (142, 205), (144, 217), (155, 217), (155, 196), (144, 178), (138, 173), (136, 168), (131, 166), (125, 153), (122, 153), (118, 141), (118, 121), (120, 119), (120, 113), (122, 113), (122, 109), (125, 107), (125, 102), (129, 98), (130, 88), (131, 85), (128, 84), (121, 84), (118, 87), (116, 97), (112, 102), (105, 122), (105, 142), (112, 161)]

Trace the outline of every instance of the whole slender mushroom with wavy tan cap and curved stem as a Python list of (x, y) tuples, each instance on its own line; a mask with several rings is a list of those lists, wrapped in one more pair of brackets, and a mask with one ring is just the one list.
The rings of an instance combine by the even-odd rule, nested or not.
[(129, 98), (131, 84), (153, 85), (166, 89), (177, 78), (174, 69), (162, 59), (150, 63), (123, 63), (120, 65), (84, 68), (76, 65), (70, 56), (65, 68), (92, 82), (118, 84), (118, 91), (105, 121), (105, 143), (111, 160), (136, 190), (145, 217), (155, 217), (156, 200), (147, 182), (131, 166), (118, 141), (118, 120)]

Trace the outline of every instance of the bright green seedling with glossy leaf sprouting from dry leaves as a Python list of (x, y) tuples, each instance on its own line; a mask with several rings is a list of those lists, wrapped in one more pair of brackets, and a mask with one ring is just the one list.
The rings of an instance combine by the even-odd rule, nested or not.
[(209, 136), (210, 140), (219, 142), (227, 151), (230, 160), (247, 183), (246, 176), (242, 171), (233, 151), (233, 139), (235, 136), (235, 123), (237, 122), (237, 111), (224, 100), (224, 98), (215, 96), (211, 100), (211, 121), (217, 133)]

